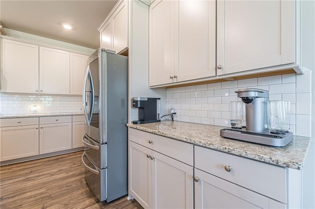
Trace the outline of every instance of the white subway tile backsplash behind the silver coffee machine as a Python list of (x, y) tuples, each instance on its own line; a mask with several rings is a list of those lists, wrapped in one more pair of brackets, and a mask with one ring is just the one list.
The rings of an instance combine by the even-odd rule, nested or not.
[(176, 109), (174, 120), (229, 126), (229, 103), (240, 101), (235, 90), (259, 88), (269, 91), (269, 100), (290, 101), (290, 124), (295, 135), (311, 137), (311, 72), (286, 74), (167, 89), (167, 111)]

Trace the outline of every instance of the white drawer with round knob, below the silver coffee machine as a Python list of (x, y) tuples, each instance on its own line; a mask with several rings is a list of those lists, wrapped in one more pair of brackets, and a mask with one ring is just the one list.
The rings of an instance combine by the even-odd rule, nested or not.
[[(230, 172), (224, 167), (231, 166)], [(286, 203), (286, 170), (195, 146), (195, 168)]]

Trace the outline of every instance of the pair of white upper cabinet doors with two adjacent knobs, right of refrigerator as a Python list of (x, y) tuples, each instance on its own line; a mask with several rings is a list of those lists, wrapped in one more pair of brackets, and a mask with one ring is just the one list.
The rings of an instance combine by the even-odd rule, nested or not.
[(216, 1), (156, 0), (149, 26), (150, 86), (215, 76)]

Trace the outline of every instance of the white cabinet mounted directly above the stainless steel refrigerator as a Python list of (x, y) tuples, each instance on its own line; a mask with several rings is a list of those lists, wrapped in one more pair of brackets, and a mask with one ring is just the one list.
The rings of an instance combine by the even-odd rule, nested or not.
[(101, 48), (125, 52), (128, 48), (128, 1), (118, 1), (98, 30)]

